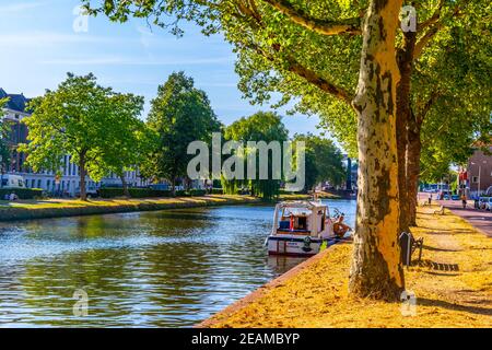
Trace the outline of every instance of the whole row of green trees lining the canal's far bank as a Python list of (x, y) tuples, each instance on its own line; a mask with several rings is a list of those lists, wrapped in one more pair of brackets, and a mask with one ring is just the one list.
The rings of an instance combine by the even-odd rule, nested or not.
[[(192, 141), (211, 144), (213, 132), (223, 130), (225, 140), (244, 142), (288, 140), (281, 117), (273, 113), (258, 113), (224, 128), (207, 94), (196, 89), (194, 80), (184, 72), (171, 74), (159, 86), (147, 122), (139, 118), (143, 103), (141, 96), (101, 86), (93, 74), (69, 73), (56, 91), (47, 91), (30, 103), (33, 113), (23, 119), (30, 130), (30, 142), (20, 144), (19, 151), (27, 154), (27, 164), (35, 172), (59, 172), (63, 155), (70, 155), (71, 162), (79, 166), (80, 196), (85, 200), (86, 175), (98, 182), (109, 173), (116, 174), (121, 178), (124, 194), (129, 196), (125, 172), (136, 168), (144, 178), (169, 180), (174, 191), (177, 178), (187, 179), (187, 166), (194, 156), (187, 154), (188, 144)], [(7, 160), (10, 148), (4, 139), (0, 141)], [(324, 179), (336, 185), (342, 182), (339, 176), (343, 173), (342, 159), (329, 140), (312, 135), (295, 139), (308, 144), (309, 188)], [(323, 160), (327, 159), (329, 163), (325, 164)], [(238, 184), (266, 199), (280, 188), (277, 179), (247, 183), (223, 179), (226, 192), (235, 192)]]

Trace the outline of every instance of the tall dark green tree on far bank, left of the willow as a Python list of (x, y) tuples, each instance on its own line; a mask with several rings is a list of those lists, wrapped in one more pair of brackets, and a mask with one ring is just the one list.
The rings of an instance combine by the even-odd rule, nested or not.
[(194, 80), (184, 72), (175, 72), (159, 86), (148, 125), (157, 136), (147, 164), (148, 173), (169, 179), (174, 194), (177, 177), (186, 176), (192, 158), (187, 154), (188, 144), (198, 140), (211, 142), (212, 132), (220, 130), (220, 122), (207, 94), (196, 89)]

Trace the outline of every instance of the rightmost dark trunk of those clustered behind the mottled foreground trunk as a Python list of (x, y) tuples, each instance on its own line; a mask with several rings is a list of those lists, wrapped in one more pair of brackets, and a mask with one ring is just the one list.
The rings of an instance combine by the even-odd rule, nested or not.
[(409, 120), (408, 149), (407, 149), (407, 174), (408, 174), (408, 199), (409, 199), (409, 224), (417, 226), (417, 196), (419, 191), (420, 154), (422, 142), (420, 131), (422, 122), (415, 118), (413, 113)]

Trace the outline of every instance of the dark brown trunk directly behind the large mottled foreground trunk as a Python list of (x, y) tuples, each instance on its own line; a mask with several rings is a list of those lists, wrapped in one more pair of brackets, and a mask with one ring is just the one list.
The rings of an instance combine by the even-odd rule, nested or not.
[(400, 81), (397, 85), (397, 149), (398, 149), (398, 189), (400, 201), (400, 232), (408, 232), (410, 226), (410, 200), (407, 174), (408, 124), (411, 117), (411, 77), (413, 69), (413, 50), (417, 42), (415, 32), (403, 32), (403, 44), (397, 52)]

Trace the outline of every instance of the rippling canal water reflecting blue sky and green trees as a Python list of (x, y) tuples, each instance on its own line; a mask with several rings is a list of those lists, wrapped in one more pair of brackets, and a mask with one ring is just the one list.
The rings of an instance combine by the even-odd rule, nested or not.
[[(353, 225), (355, 201), (328, 202)], [(303, 261), (267, 256), (272, 215), (230, 206), (0, 223), (0, 326), (190, 327)]]

